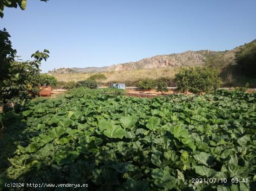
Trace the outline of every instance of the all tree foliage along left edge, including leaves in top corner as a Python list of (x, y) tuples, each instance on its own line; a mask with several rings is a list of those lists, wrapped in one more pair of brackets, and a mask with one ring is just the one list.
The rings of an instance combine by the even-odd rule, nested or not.
[[(47, 0), (40, 0), (45, 1)], [(25, 10), (27, 0), (0, 0), (0, 17), (4, 16), (4, 7), (20, 7)], [(12, 48), (9, 40), (11, 36), (4, 28), (0, 30), (0, 104), (25, 103), (29, 98), (29, 92), (33, 92), (38, 86), (40, 63), (46, 60), (49, 51), (36, 51), (31, 57), (33, 61), (15, 62), (17, 51)], [(19, 61), (19, 60), (18, 60)]]

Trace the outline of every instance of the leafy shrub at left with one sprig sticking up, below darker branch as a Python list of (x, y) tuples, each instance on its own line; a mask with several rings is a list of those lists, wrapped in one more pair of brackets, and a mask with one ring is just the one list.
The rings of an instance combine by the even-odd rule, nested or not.
[(40, 84), (41, 60), (47, 60), (49, 51), (36, 51), (33, 61), (9, 63), (8, 76), (3, 80), (0, 94), (1, 103), (25, 104), (37, 93)]

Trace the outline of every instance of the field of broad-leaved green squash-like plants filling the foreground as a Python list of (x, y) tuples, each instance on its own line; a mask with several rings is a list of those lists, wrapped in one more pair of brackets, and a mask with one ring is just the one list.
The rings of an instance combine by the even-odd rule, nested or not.
[(0, 185), (15, 179), (88, 184), (74, 189), (83, 191), (256, 186), (256, 94), (122, 94), (79, 88), (35, 100), (20, 114), (0, 115)]

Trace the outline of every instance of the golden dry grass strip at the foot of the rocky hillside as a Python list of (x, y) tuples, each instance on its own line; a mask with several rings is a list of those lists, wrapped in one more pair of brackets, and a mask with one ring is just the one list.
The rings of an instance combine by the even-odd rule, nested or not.
[[(175, 71), (179, 67), (159, 68), (159, 69), (143, 69), (143, 70), (123, 70), (123, 71), (109, 71), (102, 72), (107, 79), (102, 83), (108, 82), (136, 82), (141, 79), (151, 78), (157, 79), (159, 77), (173, 78)], [(58, 81), (80, 81), (86, 80), (91, 74), (55, 74)]]

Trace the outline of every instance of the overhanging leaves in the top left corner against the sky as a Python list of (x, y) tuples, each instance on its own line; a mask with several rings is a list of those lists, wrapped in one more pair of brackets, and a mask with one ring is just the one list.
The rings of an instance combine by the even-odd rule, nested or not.
[[(40, 0), (40, 1), (45, 1), (47, 0)], [(21, 10), (25, 10), (27, 6), (27, 0), (1, 0), (0, 1), (0, 17), (4, 17), (4, 7), (14, 7), (17, 8), (18, 6), (20, 7)]]

